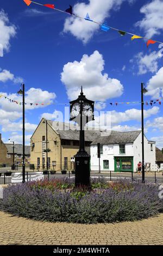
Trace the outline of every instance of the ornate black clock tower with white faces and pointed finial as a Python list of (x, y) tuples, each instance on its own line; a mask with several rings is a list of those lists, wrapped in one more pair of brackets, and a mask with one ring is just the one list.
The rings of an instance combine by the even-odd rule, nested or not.
[(79, 151), (75, 157), (76, 187), (90, 186), (90, 155), (85, 151), (84, 126), (94, 119), (95, 101), (87, 100), (81, 89), (77, 100), (70, 102), (70, 120), (80, 126)]

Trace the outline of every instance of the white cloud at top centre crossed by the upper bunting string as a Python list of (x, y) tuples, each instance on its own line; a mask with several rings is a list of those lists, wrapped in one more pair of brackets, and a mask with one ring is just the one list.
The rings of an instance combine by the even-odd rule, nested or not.
[[(119, 10), (121, 4), (126, 0), (89, 0), (89, 3), (77, 3), (73, 7), (73, 13), (85, 17), (89, 13), (92, 20), (103, 23), (106, 17), (110, 17), (111, 10)], [(133, 0), (128, 1), (130, 4)], [(64, 32), (70, 32), (77, 39), (82, 40), (84, 44), (89, 41), (96, 33), (98, 25), (95, 23), (68, 17), (65, 21)]]

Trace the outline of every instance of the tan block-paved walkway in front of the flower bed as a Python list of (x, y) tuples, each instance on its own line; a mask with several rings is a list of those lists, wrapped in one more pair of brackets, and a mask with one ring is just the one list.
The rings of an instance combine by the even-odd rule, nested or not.
[(0, 245), (163, 245), (163, 214), (116, 224), (49, 223), (0, 212)]

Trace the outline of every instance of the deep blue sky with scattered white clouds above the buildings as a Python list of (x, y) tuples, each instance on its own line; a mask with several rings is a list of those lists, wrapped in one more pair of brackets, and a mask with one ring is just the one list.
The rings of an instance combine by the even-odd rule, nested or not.
[[(57, 1), (61, 10), (70, 3), (74, 13), (108, 26), (163, 41), (163, 1), (101, 0)], [(66, 103), (76, 99), (80, 86), (88, 99), (102, 102), (96, 110), (111, 111), (112, 129), (140, 129), (140, 104), (113, 105), (106, 102), (140, 101), (140, 85), (145, 82), (145, 100), (161, 99), (163, 68), (159, 44), (146, 46), (143, 39), (104, 32), (89, 21), (70, 20), (66, 14), (23, 0), (1, 0), (0, 5), (0, 94), (20, 100), (16, 94), (23, 81), (26, 102)], [(162, 46), (160, 46), (162, 47)], [(1, 55), (2, 52), (0, 51)], [(26, 107), (26, 143), (42, 116), (55, 119), (64, 105)], [(145, 106), (148, 139), (163, 148), (162, 104)], [(3, 141), (11, 137), (22, 142), (22, 108), (0, 98), (0, 129)]]

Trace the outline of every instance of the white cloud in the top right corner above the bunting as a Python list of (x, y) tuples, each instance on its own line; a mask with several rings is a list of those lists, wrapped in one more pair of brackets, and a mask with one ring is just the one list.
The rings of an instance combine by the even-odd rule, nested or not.
[(163, 29), (163, 2), (162, 0), (154, 0), (143, 5), (140, 13), (145, 15), (141, 21), (136, 23), (145, 31), (147, 38), (152, 38), (153, 35), (160, 34)]

